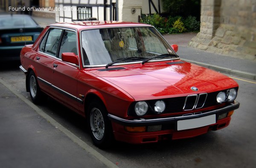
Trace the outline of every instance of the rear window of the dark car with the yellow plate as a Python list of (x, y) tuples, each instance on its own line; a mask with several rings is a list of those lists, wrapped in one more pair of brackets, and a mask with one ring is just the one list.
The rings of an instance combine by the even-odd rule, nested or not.
[(36, 27), (35, 21), (26, 15), (15, 16), (6, 15), (0, 17), (0, 29), (2, 28), (20, 28), (20, 27)]

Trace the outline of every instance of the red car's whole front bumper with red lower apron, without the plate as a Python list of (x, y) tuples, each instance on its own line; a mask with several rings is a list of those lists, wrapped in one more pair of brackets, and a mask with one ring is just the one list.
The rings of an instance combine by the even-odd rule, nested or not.
[[(193, 114), (190, 116), (181, 117), (165, 117), (165, 118), (155, 118), (155, 119), (139, 119), (139, 120), (125, 120), (120, 117), (108, 114), (108, 117), (112, 121), (113, 134), (116, 140), (132, 143), (132, 144), (142, 144), (142, 143), (152, 143), (158, 142), (159, 140), (177, 140), (184, 138), (196, 137), (201, 134), (206, 134), (208, 131), (216, 131), (227, 127), (230, 124), (231, 117), (227, 116), (218, 120), (218, 116), (224, 113), (229, 113), (237, 108), (239, 108), (240, 103), (233, 102), (222, 108), (215, 109), (212, 111), (205, 111), (202, 114)], [(216, 116), (216, 122), (213, 124), (207, 124), (205, 126), (200, 126), (197, 128), (189, 128), (178, 131), (177, 122), (180, 120), (189, 119), (202, 119), (202, 117)], [(203, 118), (205, 119), (205, 118)], [(145, 132), (128, 132), (125, 131), (125, 126), (128, 127), (140, 127), (140, 126), (152, 126), (152, 125), (162, 125), (159, 131), (145, 131)]]

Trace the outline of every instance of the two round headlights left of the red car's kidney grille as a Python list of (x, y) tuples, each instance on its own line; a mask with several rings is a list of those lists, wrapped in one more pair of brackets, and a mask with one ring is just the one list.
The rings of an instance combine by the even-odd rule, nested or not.
[[(157, 114), (161, 114), (166, 108), (166, 104), (162, 100), (158, 100), (154, 104), (154, 111), (157, 112)], [(145, 101), (137, 102), (135, 105), (135, 112), (138, 116), (143, 116), (148, 111), (148, 103)]]

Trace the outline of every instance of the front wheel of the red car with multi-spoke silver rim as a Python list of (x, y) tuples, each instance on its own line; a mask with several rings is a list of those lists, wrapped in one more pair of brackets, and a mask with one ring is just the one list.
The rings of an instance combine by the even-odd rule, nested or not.
[(107, 110), (99, 100), (90, 102), (87, 123), (93, 143), (98, 148), (108, 148), (113, 142), (113, 133)]

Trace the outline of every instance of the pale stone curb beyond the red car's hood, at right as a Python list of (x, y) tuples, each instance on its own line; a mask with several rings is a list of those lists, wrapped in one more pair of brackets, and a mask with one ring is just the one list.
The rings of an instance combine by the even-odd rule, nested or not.
[(201, 65), (201, 66), (204, 66), (206, 68), (209, 68), (209, 69), (212, 69), (212, 70), (224, 73), (224, 74), (234, 75), (234, 76), (237, 76), (237, 77), (243, 77), (243, 78), (250, 79), (250, 80), (256, 80), (256, 74), (252, 74), (252, 73), (249, 73), (249, 72), (243, 72), (243, 71), (238, 71), (238, 70), (235, 70), (235, 69), (223, 68), (223, 67), (220, 67), (220, 66), (210, 65), (210, 64), (207, 64), (207, 63), (200, 63), (200, 62), (192, 61), (192, 60), (186, 60), (186, 59), (181, 59), (181, 60), (189, 62), (189, 63), (194, 63), (194, 64), (197, 64), (197, 65)]

